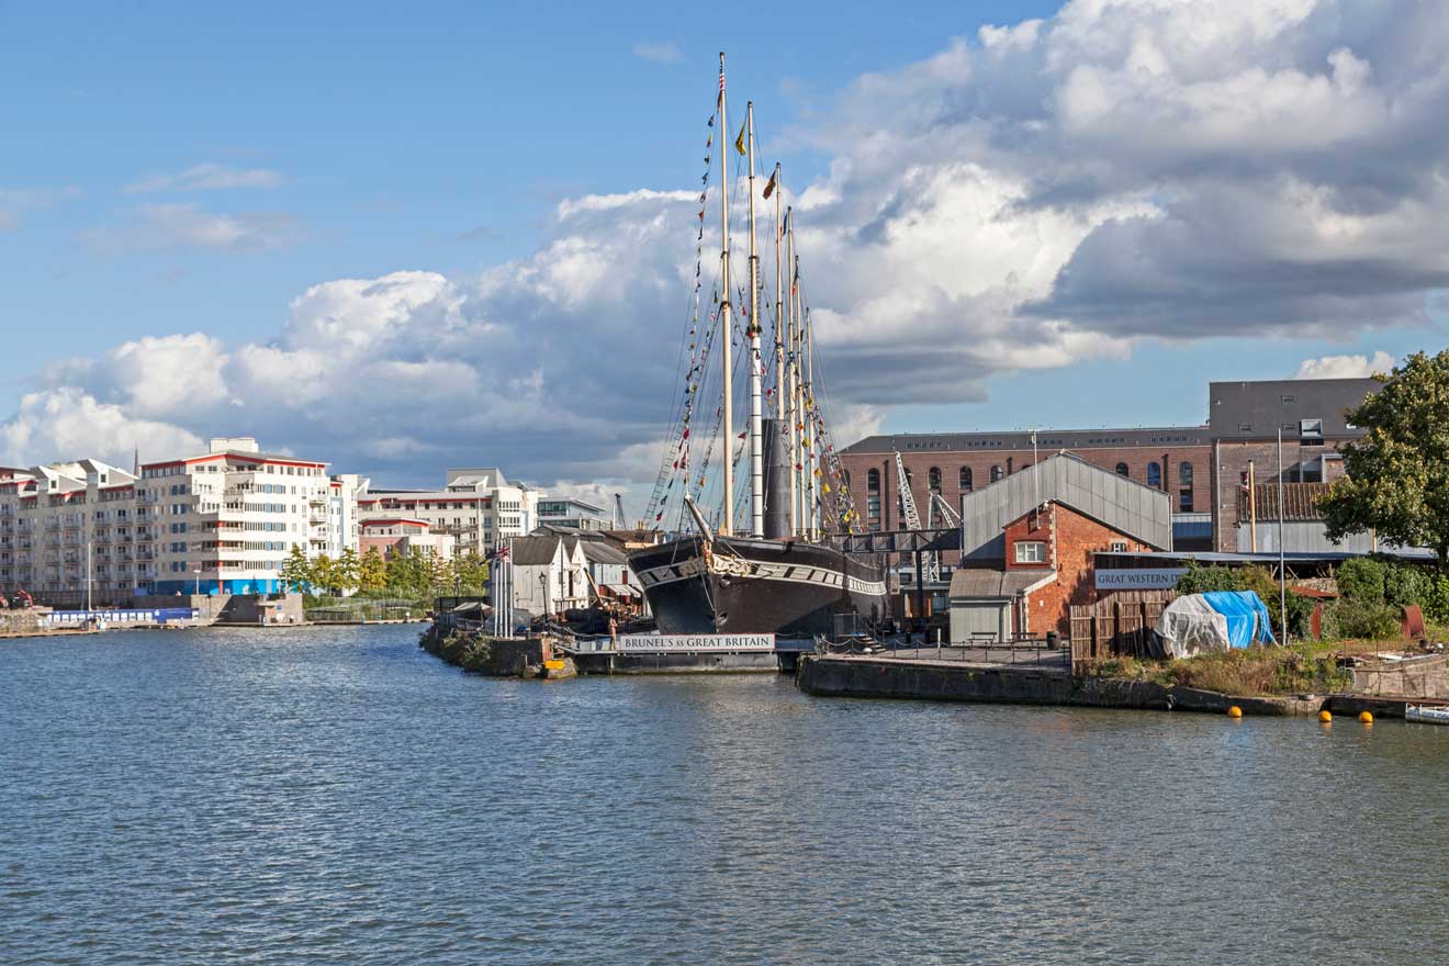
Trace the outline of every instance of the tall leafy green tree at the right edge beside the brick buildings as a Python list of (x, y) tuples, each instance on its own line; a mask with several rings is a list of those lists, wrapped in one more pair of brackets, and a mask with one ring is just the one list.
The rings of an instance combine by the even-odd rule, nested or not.
[(1319, 501), (1329, 537), (1375, 530), (1449, 572), (1449, 349), (1408, 356), (1346, 416), (1366, 434), (1343, 446), (1348, 475)]

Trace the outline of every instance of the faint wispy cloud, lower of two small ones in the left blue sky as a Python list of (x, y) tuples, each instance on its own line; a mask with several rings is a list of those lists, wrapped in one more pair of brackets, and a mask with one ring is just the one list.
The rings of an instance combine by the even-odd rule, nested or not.
[(213, 248), (254, 251), (297, 239), (297, 219), (274, 211), (216, 214), (196, 204), (143, 204), (126, 224), (91, 229), (81, 238), (103, 251)]

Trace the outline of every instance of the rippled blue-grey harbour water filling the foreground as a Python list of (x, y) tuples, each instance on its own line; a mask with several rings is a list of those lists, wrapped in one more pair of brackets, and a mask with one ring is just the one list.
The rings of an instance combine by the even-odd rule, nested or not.
[(0, 963), (1449, 957), (1449, 728), (0, 643)]

